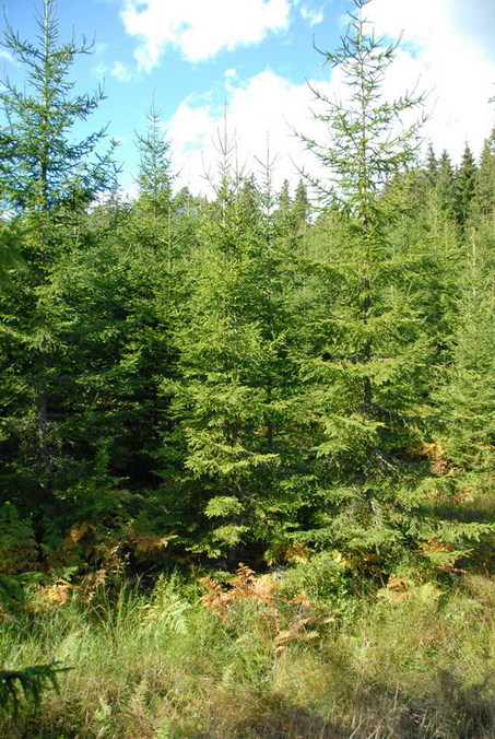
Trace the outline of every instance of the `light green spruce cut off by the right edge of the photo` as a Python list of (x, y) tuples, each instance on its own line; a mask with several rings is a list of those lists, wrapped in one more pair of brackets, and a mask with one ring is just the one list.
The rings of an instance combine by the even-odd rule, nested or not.
[[(469, 173), (469, 216), (463, 223), (464, 255), (459, 270), (451, 362), (445, 367), (440, 397), (448, 423), (444, 444), (460, 469), (483, 480), (493, 465), (495, 418), (495, 137), (486, 139), (480, 167), (464, 153)], [(465, 162), (468, 159), (468, 162)], [(461, 484), (461, 483), (459, 483)]]

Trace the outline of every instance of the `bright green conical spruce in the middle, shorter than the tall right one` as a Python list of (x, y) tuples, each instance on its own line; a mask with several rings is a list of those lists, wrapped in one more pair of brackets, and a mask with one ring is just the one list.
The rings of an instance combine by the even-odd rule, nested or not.
[(165, 523), (176, 546), (229, 566), (284, 541), (300, 500), (270, 188), (240, 175), (224, 138), (176, 335), (178, 376), (163, 384), (176, 424), (162, 453)]

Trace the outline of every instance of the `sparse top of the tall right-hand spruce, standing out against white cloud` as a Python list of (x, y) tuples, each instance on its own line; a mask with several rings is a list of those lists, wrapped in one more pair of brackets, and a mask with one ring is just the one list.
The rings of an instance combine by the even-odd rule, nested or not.
[(382, 97), (381, 85), (397, 43), (385, 45), (368, 34), (363, 15), (366, 2), (353, 0), (353, 4), (342, 46), (321, 51), (323, 63), (341, 70), (347, 98), (331, 101), (313, 90), (325, 105), (325, 110), (315, 113), (316, 119), (327, 125), (330, 139), (302, 139), (328, 171), (326, 180), (309, 177), (320, 197), (361, 221), (373, 219), (377, 226), (377, 219), (384, 219), (381, 210), (375, 212), (380, 187), (412, 160), (419, 146), (422, 119), (406, 128), (400, 116), (422, 105), (423, 96), (404, 95), (392, 102)]

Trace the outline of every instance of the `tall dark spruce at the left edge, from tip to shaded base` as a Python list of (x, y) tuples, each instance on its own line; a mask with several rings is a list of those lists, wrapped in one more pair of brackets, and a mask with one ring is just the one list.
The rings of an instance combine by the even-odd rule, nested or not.
[(0, 189), (3, 207), (17, 215), (22, 227), (19, 251), (26, 268), (11, 270), (15, 290), (3, 293), (0, 308), (2, 373), (8, 378), (2, 388), (1, 476), (3, 495), (35, 512), (42, 536), (42, 519), (51, 526), (55, 511), (70, 507), (54, 493), (67, 472), (61, 449), (72, 443), (63, 423), (79, 401), (76, 341), (62, 282), (73, 255), (84, 246), (84, 210), (115, 183), (115, 165), (113, 145), (101, 150), (104, 131), (73, 141), (75, 125), (104, 97), (101, 90), (76, 94), (69, 77), (75, 58), (90, 47), (84, 40), (59, 40), (54, 0), (44, 0), (37, 24), (35, 42), (24, 40), (9, 25), (4, 34), (25, 80), (16, 86), (7, 79), (0, 93), (7, 155)]

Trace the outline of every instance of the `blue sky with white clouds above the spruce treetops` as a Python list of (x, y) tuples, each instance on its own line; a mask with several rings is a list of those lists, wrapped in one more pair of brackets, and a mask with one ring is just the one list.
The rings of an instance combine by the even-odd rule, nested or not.
[[(35, 40), (40, 0), (3, 7), (11, 27)], [(353, 8), (352, 0), (58, 0), (57, 13), (61, 42), (72, 32), (94, 40), (70, 78), (80, 93), (104, 85), (107, 98), (86, 132), (107, 126), (119, 142), (122, 190), (135, 191), (135, 137), (154, 102), (175, 187), (208, 195), (224, 130), (239, 167), (258, 174), (270, 161), (275, 186), (287, 178), (294, 187), (300, 169), (314, 169), (294, 131), (325, 137), (308, 82), (331, 98), (343, 94), (319, 50), (340, 45)], [(425, 142), (455, 163), (464, 142), (479, 156), (495, 122), (494, 0), (370, 0), (366, 15), (377, 36), (402, 34), (384, 95), (425, 91)], [(5, 48), (0, 62), (3, 78), (22, 84), (22, 64)]]

